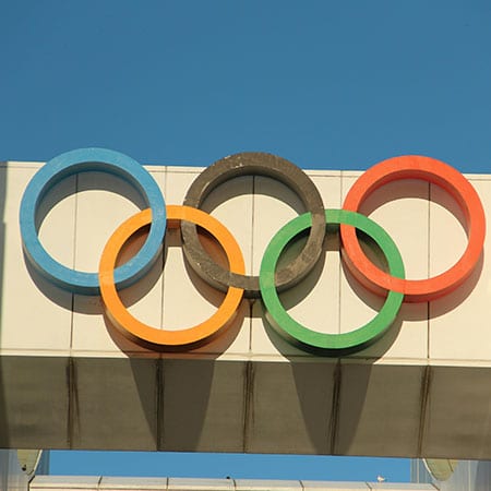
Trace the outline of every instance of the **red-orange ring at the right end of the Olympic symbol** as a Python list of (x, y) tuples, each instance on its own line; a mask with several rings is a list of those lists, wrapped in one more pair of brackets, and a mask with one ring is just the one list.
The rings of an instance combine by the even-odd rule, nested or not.
[(428, 279), (402, 279), (376, 267), (363, 253), (355, 227), (340, 226), (344, 259), (351, 274), (378, 295), (387, 290), (405, 294), (405, 301), (434, 300), (464, 283), (481, 256), (486, 217), (481, 200), (470, 182), (456, 169), (430, 157), (405, 155), (388, 158), (371, 167), (349, 190), (344, 209), (358, 212), (366, 197), (378, 188), (400, 179), (421, 179), (447, 191), (466, 218), (468, 244), (460, 259), (444, 273)]

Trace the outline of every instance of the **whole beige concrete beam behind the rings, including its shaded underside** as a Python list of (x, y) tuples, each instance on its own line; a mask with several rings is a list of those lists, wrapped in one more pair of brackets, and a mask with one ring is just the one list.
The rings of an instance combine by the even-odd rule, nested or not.
[[(155, 354), (111, 328), (98, 298), (61, 291), (28, 271), (19, 204), (39, 167), (0, 165), (2, 446), (491, 458), (489, 240), (462, 288), (404, 304), (391, 332), (360, 352), (307, 354), (271, 328), (260, 301), (244, 300), (229, 331), (209, 345)], [(169, 204), (182, 202), (201, 171), (148, 170)], [(360, 172), (309, 175), (324, 205), (339, 208)], [(491, 216), (491, 177), (468, 178)], [(462, 253), (459, 213), (434, 185), (390, 184), (367, 209), (378, 202), (371, 216), (400, 248), (409, 277), (438, 274)], [(141, 204), (128, 185), (100, 173), (63, 181), (47, 203), (46, 248), (91, 271), (108, 236)], [(204, 208), (238, 239), (249, 273), (259, 271), (270, 238), (302, 211), (291, 191), (259, 177), (223, 184)], [(122, 296), (139, 319), (172, 330), (209, 315), (219, 295), (187, 268), (179, 235), (169, 240), (164, 273), (156, 265)], [(342, 333), (371, 319), (381, 300), (346, 275), (335, 247), (326, 242), (326, 259), (284, 301), (313, 328)], [(46, 408), (43, 419), (27, 393)]]

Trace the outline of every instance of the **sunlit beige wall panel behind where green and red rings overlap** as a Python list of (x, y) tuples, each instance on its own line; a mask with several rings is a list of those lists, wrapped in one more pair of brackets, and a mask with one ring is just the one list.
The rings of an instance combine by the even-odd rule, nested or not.
[[(360, 172), (343, 172), (343, 201), (359, 175)], [(428, 195), (429, 187), (424, 182), (409, 179), (396, 181), (375, 191), (360, 209), (360, 213), (373, 219), (392, 237), (403, 256), (408, 278), (428, 276)], [(370, 249), (364, 250), (370, 255)], [(343, 271), (340, 331), (349, 332), (373, 319), (384, 299), (360, 286), (346, 267)], [(354, 357), (426, 359), (427, 316), (427, 303), (403, 303), (397, 320), (387, 334)]]

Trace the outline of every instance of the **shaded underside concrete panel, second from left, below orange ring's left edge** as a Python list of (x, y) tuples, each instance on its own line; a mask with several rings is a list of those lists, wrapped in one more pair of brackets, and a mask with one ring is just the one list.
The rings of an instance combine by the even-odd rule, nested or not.
[[(75, 358), (70, 445), (156, 451), (159, 360)], [(97, 380), (97, 383), (95, 383)]]

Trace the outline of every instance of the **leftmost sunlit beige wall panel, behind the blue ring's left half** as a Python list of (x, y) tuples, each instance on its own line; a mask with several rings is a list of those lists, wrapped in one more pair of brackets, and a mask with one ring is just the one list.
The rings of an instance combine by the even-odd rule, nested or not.
[[(0, 349), (3, 352), (44, 350), (62, 355), (70, 349), (72, 296), (37, 273), (33, 275), (35, 285), (24, 261), (19, 227), (22, 194), (38, 167), (27, 164), (0, 167), (0, 180), (5, 183), (2, 196), (5, 205), (3, 217), (0, 217)], [(68, 179), (47, 196), (47, 203), (62, 201), (47, 214), (41, 227), (43, 243), (65, 265), (73, 263), (74, 195), (63, 196), (73, 191), (73, 180)]]

